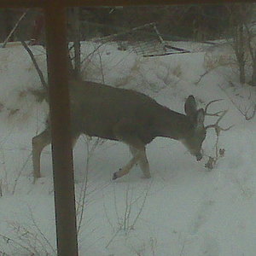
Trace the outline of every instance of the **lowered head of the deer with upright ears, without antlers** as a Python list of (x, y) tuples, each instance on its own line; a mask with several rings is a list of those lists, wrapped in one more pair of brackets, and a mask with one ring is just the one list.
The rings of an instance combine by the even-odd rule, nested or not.
[(201, 145), (207, 135), (207, 129), (204, 126), (205, 111), (203, 108), (196, 108), (194, 96), (188, 97), (184, 108), (191, 131), (189, 131), (187, 137), (183, 138), (182, 143), (189, 149), (190, 154), (195, 155), (196, 160), (201, 160)]

